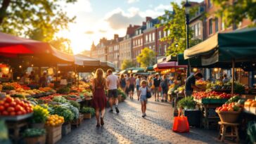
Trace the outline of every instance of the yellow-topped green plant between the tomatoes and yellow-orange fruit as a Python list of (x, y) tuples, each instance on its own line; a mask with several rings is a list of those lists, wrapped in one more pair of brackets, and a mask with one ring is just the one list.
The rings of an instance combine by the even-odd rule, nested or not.
[(33, 107), (33, 116), (31, 119), (32, 127), (43, 129), (44, 123), (49, 115), (48, 107), (46, 105), (36, 105)]

